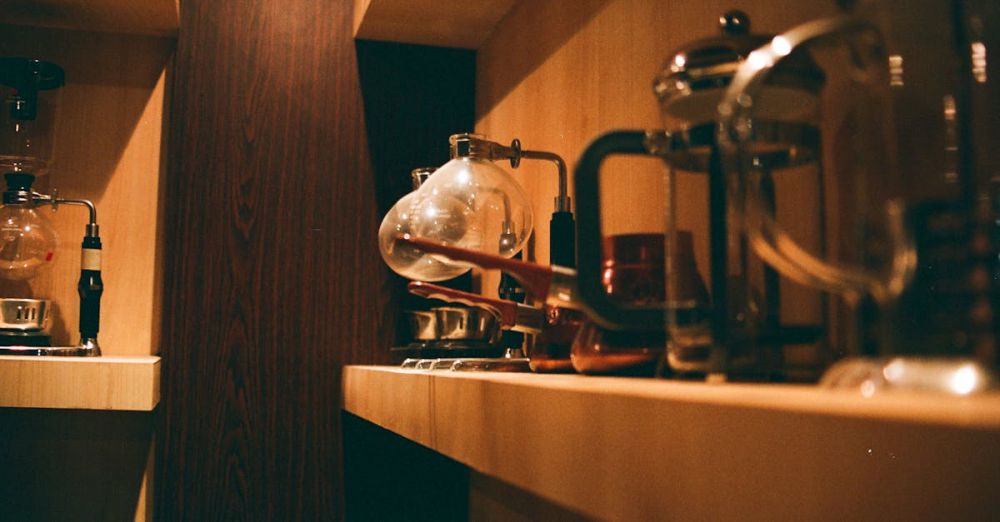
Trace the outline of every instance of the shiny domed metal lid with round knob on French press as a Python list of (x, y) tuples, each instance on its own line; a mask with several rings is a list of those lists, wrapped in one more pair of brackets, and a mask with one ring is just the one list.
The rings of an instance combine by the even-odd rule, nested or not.
[[(742, 11), (720, 16), (719, 28), (720, 36), (685, 45), (664, 62), (653, 82), (653, 92), (665, 116), (690, 125), (714, 121), (722, 91), (732, 81), (736, 69), (754, 50), (773, 38), (773, 35), (750, 33), (750, 17)], [(814, 98), (825, 80), (812, 58), (799, 52), (775, 68), (768, 85), (781, 91), (779, 98), (785, 103), (780, 105), (801, 107), (811, 105), (804, 98)], [(797, 119), (801, 112), (780, 119)]]

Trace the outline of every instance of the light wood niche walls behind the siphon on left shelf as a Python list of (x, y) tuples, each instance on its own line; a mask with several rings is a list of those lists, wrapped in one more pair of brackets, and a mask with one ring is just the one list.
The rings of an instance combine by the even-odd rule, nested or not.
[[(171, 38), (0, 27), (0, 54), (55, 62), (66, 70), (55, 156), (35, 187), (97, 205), (104, 244), (100, 341), (106, 355), (155, 353), (162, 253), (160, 164)], [(52, 213), (60, 241), (53, 266), (27, 282), (0, 280), (0, 294), (52, 299), (53, 344), (79, 340), (80, 241), (87, 212)]]

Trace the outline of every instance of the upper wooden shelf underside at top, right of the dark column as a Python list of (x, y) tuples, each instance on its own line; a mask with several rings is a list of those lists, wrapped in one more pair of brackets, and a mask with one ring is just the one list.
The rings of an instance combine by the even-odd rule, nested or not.
[(354, 37), (478, 49), (518, 0), (355, 0)]

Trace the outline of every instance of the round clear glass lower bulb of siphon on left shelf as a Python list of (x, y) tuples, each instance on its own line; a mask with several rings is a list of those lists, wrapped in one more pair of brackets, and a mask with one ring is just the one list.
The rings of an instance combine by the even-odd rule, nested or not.
[(0, 207), (0, 277), (31, 279), (52, 265), (56, 233), (48, 219), (24, 205)]

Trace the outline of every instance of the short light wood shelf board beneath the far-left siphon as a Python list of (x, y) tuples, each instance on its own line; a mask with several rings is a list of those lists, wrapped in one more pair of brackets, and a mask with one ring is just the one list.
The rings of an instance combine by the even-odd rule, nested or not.
[(160, 358), (0, 355), (0, 407), (152, 411)]

